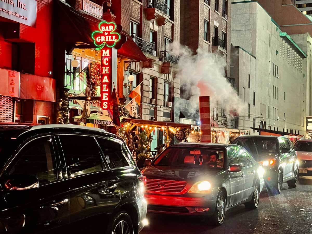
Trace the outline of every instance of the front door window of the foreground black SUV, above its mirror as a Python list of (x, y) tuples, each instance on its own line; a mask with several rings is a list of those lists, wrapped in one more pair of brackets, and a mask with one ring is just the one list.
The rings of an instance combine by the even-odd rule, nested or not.
[(37, 176), (39, 185), (57, 180), (55, 153), (50, 136), (30, 141), (17, 157), (19, 159), (10, 170), (10, 175)]

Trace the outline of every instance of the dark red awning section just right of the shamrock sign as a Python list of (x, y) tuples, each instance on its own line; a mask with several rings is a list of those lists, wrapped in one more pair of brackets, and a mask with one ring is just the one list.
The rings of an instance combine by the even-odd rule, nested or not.
[(127, 37), (127, 41), (118, 50), (118, 55), (133, 61), (147, 61), (146, 56), (141, 49), (132, 40), (132, 37), (128, 34), (122, 33)]

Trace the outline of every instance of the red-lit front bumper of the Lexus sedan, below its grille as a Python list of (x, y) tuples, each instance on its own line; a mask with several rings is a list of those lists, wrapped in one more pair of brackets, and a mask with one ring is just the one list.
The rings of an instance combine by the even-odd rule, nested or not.
[[(180, 214), (180, 215), (210, 215), (215, 212), (217, 199), (207, 200), (197, 197), (172, 197), (145, 194), (148, 212)], [(197, 212), (195, 208), (205, 207), (208, 211)]]

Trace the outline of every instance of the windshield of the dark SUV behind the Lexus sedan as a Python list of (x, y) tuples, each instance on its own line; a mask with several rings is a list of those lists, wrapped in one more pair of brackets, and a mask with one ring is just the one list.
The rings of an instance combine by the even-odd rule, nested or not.
[(272, 154), (278, 153), (277, 140), (271, 137), (238, 137), (232, 144), (244, 147), (258, 162), (271, 158)]

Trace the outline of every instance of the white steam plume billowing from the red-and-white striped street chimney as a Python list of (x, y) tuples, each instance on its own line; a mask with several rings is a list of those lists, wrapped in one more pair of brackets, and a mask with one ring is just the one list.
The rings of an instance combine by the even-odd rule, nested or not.
[(190, 97), (190, 114), (198, 110), (199, 96), (210, 96), (211, 107), (220, 107), (227, 113), (236, 110), (239, 114), (245, 110), (246, 105), (225, 77), (225, 58), (200, 50), (193, 55), (188, 47), (180, 48), (180, 54), (177, 77), (180, 78), (181, 98)]

